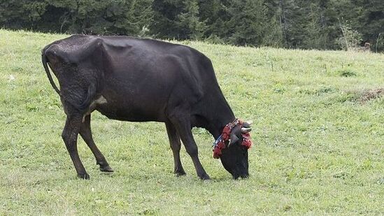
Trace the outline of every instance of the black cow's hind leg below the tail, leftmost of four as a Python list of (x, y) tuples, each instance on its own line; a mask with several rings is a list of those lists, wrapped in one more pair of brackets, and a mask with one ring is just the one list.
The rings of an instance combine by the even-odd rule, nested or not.
[(82, 119), (83, 117), (81, 115), (67, 115), (62, 138), (66, 145), (66, 149), (69, 152), (69, 156), (71, 156), (73, 165), (76, 168), (78, 178), (89, 179), (90, 175), (85, 171), (85, 168), (80, 161), (80, 157), (78, 156), (77, 140)]

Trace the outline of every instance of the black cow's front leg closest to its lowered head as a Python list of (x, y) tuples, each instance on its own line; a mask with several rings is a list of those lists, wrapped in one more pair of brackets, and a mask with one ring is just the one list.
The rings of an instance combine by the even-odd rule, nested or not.
[(180, 138), (184, 143), (185, 150), (187, 150), (187, 153), (190, 154), (190, 157), (192, 158), (197, 176), (199, 176), (199, 178), (202, 180), (210, 179), (203, 166), (201, 166), (197, 145), (192, 136), (189, 117), (176, 117), (171, 119), (171, 122), (176, 127), (178, 134), (180, 134)]

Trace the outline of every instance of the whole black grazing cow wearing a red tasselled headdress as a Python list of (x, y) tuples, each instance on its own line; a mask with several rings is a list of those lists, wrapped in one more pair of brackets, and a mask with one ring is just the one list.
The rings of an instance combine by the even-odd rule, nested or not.
[(164, 122), (174, 172), (185, 175), (181, 139), (197, 175), (206, 180), (209, 176), (201, 166), (191, 131), (203, 127), (217, 139), (214, 157), (220, 157), (235, 179), (248, 177), (250, 124), (236, 120), (211, 60), (201, 52), (151, 39), (76, 35), (47, 45), (42, 62), (66, 113), (62, 138), (79, 178), (90, 176), (78, 155), (78, 134), (92, 150), (100, 170), (113, 171), (92, 139), (90, 114), (94, 110), (113, 120)]

